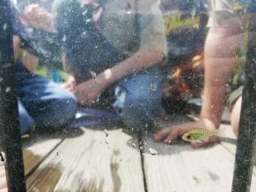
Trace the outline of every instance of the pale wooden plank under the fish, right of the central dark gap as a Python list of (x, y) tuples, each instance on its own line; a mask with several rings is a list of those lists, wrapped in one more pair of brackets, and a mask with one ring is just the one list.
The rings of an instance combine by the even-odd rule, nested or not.
[[(233, 140), (230, 141), (236, 141), (234, 135), (231, 138)], [(150, 136), (143, 139), (143, 167), (148, 192), (231, 190), (235, 162), (234, 146), (236, 150), (234, 143), (225, 142), (224, 146), (228, 146), (226, 148), (218, 144), (212, 148), (193, 149), (184, 143), (170, 146), (154, 143)], [(154, 148), (159, 154), (150, 154), (148, 148)], [(256, 191), (254, 174), (251, 191)]]

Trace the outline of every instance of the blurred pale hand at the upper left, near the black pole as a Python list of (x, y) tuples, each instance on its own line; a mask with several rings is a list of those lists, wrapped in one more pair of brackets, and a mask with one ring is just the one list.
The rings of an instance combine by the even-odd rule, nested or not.
[(23, 10), (23, 18), (33, 28), (46, 31), (55, 30), (54, 17), (48, 10), (42, 8), (38, 3), (31, 3)]

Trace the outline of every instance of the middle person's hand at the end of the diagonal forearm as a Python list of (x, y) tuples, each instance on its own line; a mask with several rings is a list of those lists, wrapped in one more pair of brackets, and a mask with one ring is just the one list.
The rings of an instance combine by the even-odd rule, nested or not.
[(97, 83), (96, 79), (90, 79), (79, 84), (74, 90), (74, 95), (81, 105), (90, 106), (96, 102), (97, 97), (102, 94), (105, 88), (105, 84)]

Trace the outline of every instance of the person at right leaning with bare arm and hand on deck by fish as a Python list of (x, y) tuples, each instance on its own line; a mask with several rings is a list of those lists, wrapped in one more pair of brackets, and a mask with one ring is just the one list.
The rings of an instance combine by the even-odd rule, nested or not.
[[(248, 34), (248, 46), (255, 46), (255, 4), (241, 1), (212, 0), (210, 26), (205, 43), (205, 84), (200, 119), (187, 124), (173, 125), (154, 134), (154, 141), (172, 143), (185, 132), (198, 128), (218, 129), (227, 100), (227, 86), (236, 71), (236, 58), (242, 40)], [(248, 27), (247, 27), (248, 26)], [(238, 135), (241, 96), (231, 113), (231, 125)], [(209, 141), (214, 142), (214, 141)], [(191, 143), (200, 147), (206, 143)]]

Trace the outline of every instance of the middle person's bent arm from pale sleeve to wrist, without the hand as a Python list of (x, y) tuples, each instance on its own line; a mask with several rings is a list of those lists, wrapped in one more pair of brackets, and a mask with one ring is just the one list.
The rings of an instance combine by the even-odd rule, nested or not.
[[(141, 4), (143, 13), (140, 17), (140, 48), (125, 61), (97, 75), (108, 86), (131, 73), (159, 65), (166, 57), (166, 35), (164, 20), (157, 3)], [(146, 14), (145, 14), (146, 13)]]

